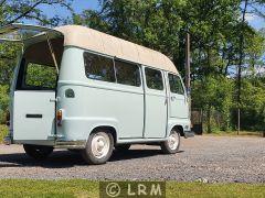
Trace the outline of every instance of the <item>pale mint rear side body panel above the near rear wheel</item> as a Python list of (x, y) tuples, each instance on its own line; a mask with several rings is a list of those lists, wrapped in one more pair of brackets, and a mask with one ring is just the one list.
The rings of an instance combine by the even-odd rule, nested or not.
[[(59, 79), (60, 100), (64, 119), (57, 132), (66, 140), (87, 140), (98, 125), (110, 125), (118, 139), (142, 138), (144, 89), (88, 79), (85, 76), (83, 50), (65, 50)], [(65, 90), (73, 89), (74, 98), (66, 98)]]

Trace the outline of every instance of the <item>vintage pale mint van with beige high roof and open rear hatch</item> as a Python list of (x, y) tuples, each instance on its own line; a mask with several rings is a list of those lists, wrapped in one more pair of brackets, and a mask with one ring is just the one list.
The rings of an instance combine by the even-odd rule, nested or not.
[(44, 160), (54, 148), (106, 163), (113, 150), (160, 145), (174, 154), (193, 136), (180, 74), (163, 54), (78, 25), (11, 24), (23, 46), (11, 86), (7, 144)]

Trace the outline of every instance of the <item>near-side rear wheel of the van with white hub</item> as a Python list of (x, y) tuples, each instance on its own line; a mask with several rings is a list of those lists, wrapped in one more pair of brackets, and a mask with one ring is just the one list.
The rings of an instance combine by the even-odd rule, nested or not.
[(99, 130), (89, 135), (86, 147), (81, 153), (87, 164), (98, 165), (110, 158), (113, 150), (113, 135), (108, 131)]

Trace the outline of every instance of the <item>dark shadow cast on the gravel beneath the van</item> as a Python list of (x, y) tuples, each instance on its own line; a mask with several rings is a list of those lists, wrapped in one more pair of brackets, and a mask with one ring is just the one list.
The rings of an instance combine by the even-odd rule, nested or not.
[[(179, 153), (181, 153), (180, 151)], [(160, 150), (129, 150), (126, 152), (114, 151), (109, 162), (145, 158), (156, 155), (162, 155)], [(45, 168), (67, 168), (73, 166), (88, 166), (80, 153), (68, 151), (55, 151), (45, 161), (39, 162), (30, 158), (24, 153), (0, 154), (1, 167), (30, 167), (41, 166)]]

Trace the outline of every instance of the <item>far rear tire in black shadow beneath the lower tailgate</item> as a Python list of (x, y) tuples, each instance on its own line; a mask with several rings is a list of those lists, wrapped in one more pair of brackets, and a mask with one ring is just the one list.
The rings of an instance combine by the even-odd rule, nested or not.
[(52, 146), (24, 144), (23, 147), (26, 155), (38, 161), (45, 160), (53, 152)]

